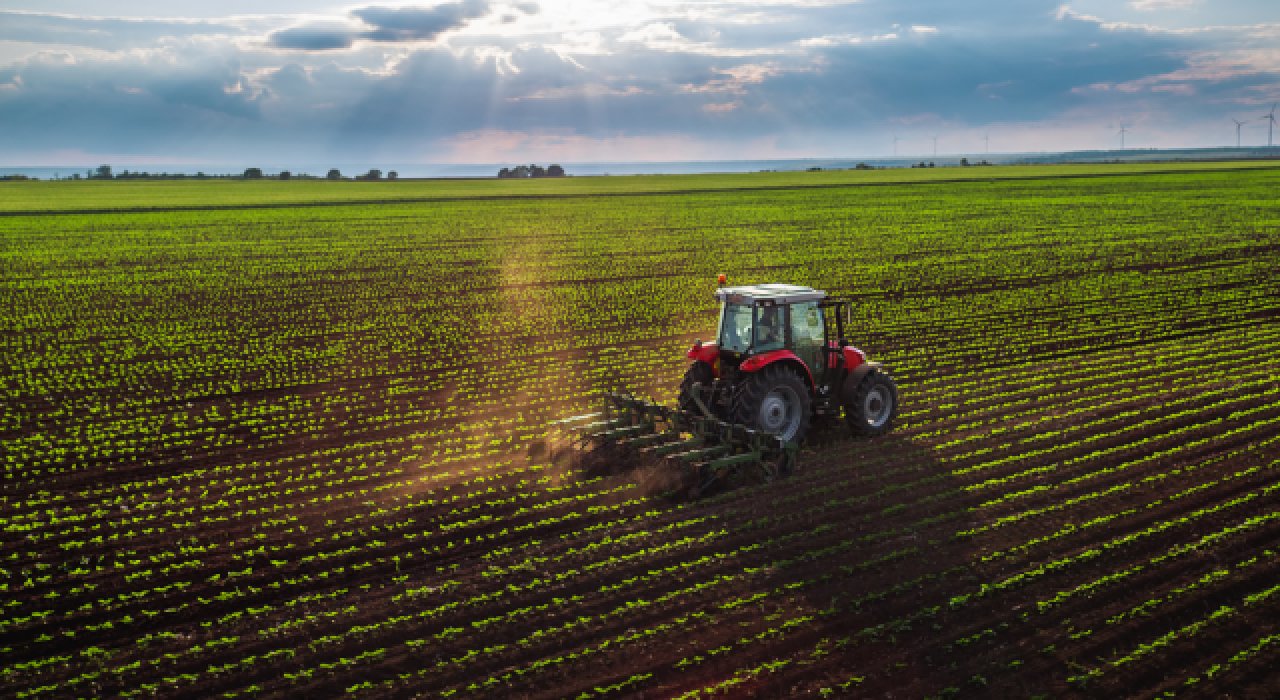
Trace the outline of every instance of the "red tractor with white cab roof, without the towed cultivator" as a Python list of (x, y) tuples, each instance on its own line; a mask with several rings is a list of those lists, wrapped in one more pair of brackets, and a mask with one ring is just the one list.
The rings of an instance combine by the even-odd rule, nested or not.
[(850, 302), (794, 284), (721, 287), (716, 298), (717, 340), (689, 351), (682, 411), (705, 407), (721, 421), (790, 443), (804, 440), (815, 416), (841, 412), (854, 435), (890, 431), (897, 386), (845, 338)]

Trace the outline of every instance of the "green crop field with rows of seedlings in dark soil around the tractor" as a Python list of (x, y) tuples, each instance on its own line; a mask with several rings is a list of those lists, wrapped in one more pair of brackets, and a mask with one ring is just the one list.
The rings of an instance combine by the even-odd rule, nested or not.
[[(1268, 697), (1280, 169), (1178, 168), (4, 186), (0, 695)], [(701, 500), (557, 449), (717, 273), (856, 299), (899, 427)]]

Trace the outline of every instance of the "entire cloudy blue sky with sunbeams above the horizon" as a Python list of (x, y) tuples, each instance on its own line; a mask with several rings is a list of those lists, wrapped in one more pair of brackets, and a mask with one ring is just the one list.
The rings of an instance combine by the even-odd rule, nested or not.
[(0, 0), (6, 165), (1263, 146), (1277, 101), (1274, 0)]

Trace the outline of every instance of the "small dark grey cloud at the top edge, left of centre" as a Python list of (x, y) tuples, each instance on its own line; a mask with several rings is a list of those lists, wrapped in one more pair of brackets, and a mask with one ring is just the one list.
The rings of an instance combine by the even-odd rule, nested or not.
[[(525, 13), (538, 12), (538, 5), (518, 5)], [(268, 44), (275, 49), (328, 51), (349, 49), (357, 41), (402, 42), (429, 41), (451, 29), (465, 27), (492, 10), (489, 0), (462, 0), (431, 8), (387, 8), (370, 5), (351, 10), (351, 17), (364, 27), (303, 24), (271, 32)]]

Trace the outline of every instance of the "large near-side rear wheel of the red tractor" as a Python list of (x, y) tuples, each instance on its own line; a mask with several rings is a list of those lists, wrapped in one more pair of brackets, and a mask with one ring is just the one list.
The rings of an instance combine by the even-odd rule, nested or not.
[(809, 433), (809, 386), (795, 370), (769, 365), (751, 375), (735, 397), (733, 422), (799, 443)]

